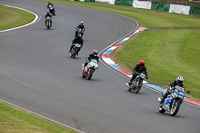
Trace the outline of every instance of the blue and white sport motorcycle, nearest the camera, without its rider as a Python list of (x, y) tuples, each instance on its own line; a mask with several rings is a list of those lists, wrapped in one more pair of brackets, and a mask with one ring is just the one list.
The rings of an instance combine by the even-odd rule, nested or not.
[[(190, 93), (190, 91), (187, 91), (187, 93)], [(160, 103), (158, 111), (160, 113), (167, 111), (170, 112), (171, 116), (175, 116), (185, 98), (186, 92), (184, 88), (176, 85), (174, 90), (171, 91), (171, 94), (167, 96), (164, 102)], [(158, 101), (161, 102), (161, 98), (158, 98)]]

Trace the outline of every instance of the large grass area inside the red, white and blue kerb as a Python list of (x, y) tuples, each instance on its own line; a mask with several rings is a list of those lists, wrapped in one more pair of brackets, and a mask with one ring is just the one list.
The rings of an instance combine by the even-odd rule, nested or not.
[(167, 86), (177, 76), (191, 95), (200, 98), (200, 30), (143, 31), (116, 53), (132, 69), (144, 59), (149, 82)]

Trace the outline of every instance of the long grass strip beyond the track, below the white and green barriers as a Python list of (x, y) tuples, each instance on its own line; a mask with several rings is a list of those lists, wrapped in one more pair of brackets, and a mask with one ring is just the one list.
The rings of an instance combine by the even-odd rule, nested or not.
[(76, 2), (68, 0), (51, 0), (51, 2), (88, 7), (122, 14), (138, 20), (143, 27), (200, 27), (200, 19), (197, 16), (171, 14), (155, 10), (138, 9), (130, 6), (110, 5), (96, 2)]

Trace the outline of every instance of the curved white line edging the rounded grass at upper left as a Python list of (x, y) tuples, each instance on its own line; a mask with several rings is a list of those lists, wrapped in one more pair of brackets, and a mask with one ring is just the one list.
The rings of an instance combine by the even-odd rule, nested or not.
[[(22, 25), (22, 26), (19, 26), (19, 27), (15, 27), (15, 28), (11, 28), (11, 29), (7, 29), (7, 30), (2, 30), (2, 31), (0, 31), (0, 32), (6, 32), (6, 31), (11, 31), (11, 30), (16, 30), (16, 29), (19, 29), (19, 28), (23, 28), (23, 27), (26, 27), (26, 26), (29, 26), (29, 25), (31, 25), (31, 24), (36, 23), (36, 21), (37, 21), (37, 20), (39, 21), (39, 19), (40, 19), (40, 17), (38, 17), (37, 14), (35, 14), (35, 13), (31, 12), (31, 11), (28, 11), (28, 10), (26, 10), (26, 9), (19, 8), (19, 7), (15, 7), (15, 6), (10, 6), (10, 5), (4, 5), (4, 6), (8, 6), (8, 7), (17, 8), (17, 9), (20, 9), (20, 10), (27, 11), (27, 12), (29, 12), (29, 13), (35, 15), (35, 19), (34, 19), (32, 22), (28, 23), (28, 24), (25, 24), (25, 25)], [(38, 18), (39, 18), (39, 19), (38, 19)], [(37, 21), (37, 22), (38, 22), (38, 21)]]

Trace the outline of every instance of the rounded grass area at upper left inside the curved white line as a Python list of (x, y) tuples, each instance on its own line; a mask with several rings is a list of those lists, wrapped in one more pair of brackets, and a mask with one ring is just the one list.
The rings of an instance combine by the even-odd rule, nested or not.
[(0, 31), (30, 23), (35, 15), (16, 8), (0, 5)]

